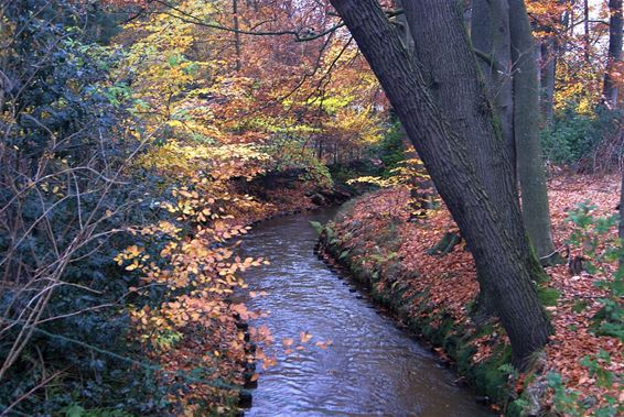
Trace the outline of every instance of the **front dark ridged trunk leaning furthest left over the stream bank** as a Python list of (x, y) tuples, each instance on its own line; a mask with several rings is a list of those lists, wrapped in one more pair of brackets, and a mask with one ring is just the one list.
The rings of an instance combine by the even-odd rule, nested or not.
[[(525, 364), (526, 359), (540, 349), (548, 339), (549, 325), (538, 300), (531, 279), (540, 271), (535, 270), (523, 256), (521, 244), (510, 238), (502, 223), (502, 213), (515, 212), (521, 223), (519, 210), (497, 207), (488, 195), (486, 185), (477, 174), (472, 138), (459, 128), (453, 116), (444, 114), (440, 103), (451, 98), (441, 94), (435, 74), (424, 73), (423, 63), (410, 59), (386, 14), (376, 0), (332, 0), (343, 18), (362, 53), (377, 75), (388, 99), (399, 116), (409, 138), (429, 171), (435, 186), (458, 222), (462, 235), (472, 251), (478, 271), (480, 285), (493, 295), (494, 307), (512, 341), (514, 362)], [(429, 20), (441, 35), (463, 29), (459, 1), (405, 2), (406, 14), (415, 42), (420, 40), (415, 28)], [(408, 12), (416, 7), (423, 15), (415, 19)], [(421, 10), (422, 9), (422, 10)], [(433, 23), (433, 24), (431, 24)], [(459, 25), (459, 26), (458, 26)], [(470, 59), (465, 65), (476, 68), (467, 33), (458, 42), (445, 43), (445, 36), (431, 35), (430, 50), (437, 59)], [(466, 58), (467, 57), (467, 58)], [(467, 80), (473, 83), (474, 80)], [(478, 97), (485, 99), (483, 91)], [(487, 100), (482, 102), (480, 125), (494, 125), (494, 117)], [(489, 141), (492, 138), (485, 138)], [(491, 155), (504, 164), (501, 154)], [(507, 162), (508, 164), (508, 162)], [(507, 172), (506, 176), (510, 177)]]

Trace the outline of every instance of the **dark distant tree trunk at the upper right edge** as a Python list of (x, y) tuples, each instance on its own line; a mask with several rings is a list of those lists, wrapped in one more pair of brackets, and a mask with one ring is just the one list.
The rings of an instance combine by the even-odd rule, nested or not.
[(612, 109), (617, 108), (617, 80), (614, 75), (618, 65), (622, 65), (622, 35), (624, 31), (624, 17), (622, 0), (609, 0), (609, 61), (604, 74), (603, 96), (604, 102)]

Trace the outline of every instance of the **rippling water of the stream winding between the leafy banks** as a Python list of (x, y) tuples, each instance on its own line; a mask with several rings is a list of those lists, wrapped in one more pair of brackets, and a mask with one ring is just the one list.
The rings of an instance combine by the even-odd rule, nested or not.
[[(453, 385), (456, 376), (392, 320), (379, 314), (346, 281), (313, 253), (316, 233), (310, 221), (324, 222), (335, 210), (276, 218), (256, 227), (243, 243), (245, 256), (263, 256), (268, 266), (245, 275), (246, 299), (268, 317), (278, 364), (252, 391), (246, 416), (491, 416), (474, 395)], [(305, 351), (283, 354), (282, 338), (313, 338)], [(314, 341), (332, 340), (327, 349)], [(280, 352), (281, 351), (281, 352)]]

